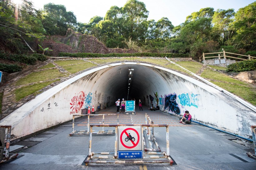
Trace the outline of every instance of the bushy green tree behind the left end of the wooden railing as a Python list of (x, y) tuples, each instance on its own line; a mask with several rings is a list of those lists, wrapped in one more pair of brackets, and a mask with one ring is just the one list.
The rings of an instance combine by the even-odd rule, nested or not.
[[(169, 46), (174, 50), (190, 52), (194, 59), (198, 59), (205, 49), (205, 42), (211, 39), (213, 8), (203, 8), (187, 16), (185, 23), (174, 28), (175, 44)], [(179, 48), (178, 45), (182, 45)]]

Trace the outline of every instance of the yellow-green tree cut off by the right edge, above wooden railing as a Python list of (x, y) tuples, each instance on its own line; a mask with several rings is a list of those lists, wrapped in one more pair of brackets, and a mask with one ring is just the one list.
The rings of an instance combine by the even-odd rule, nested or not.
[(256, 50), (256, 2), (240, 8), (234, 17), (232, 28), (236, 31), (233, 37), (237, 48)]

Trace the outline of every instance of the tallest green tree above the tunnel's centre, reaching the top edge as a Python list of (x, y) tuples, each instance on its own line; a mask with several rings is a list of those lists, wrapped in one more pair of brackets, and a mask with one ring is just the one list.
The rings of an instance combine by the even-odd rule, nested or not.
[[(143, 2), (129, 0), (124, 7), (112, 6), (107, 11), (104, 22), (111, 22), (112, 35), (117, 33), (127, 41), (132, 38), (133, 41), (143, 43), (148, 27), (147, 17), (148, 11)], [(104, 25), (104, 22), (101, 22), (101, 25)]]

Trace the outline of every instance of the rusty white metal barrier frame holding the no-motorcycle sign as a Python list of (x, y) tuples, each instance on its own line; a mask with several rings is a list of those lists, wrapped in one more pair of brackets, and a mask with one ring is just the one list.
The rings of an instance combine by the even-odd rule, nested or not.
[[(139, 160), (123, 160), (118, 159), (117, 156), (117, 127), (118, 126), (141, 126), (141, 130), (143, 131), (143, 127), (166, 127), (166, 152), (143, 152), (143, 159)], [(92, 145), (92, 127), (115, 127), (115, 152), (91, 152), (91, 145)], [(143, 150), (143, 148), (142, 148)], [(99, 156), (96, 156), (99, 155)], [(96, 160), (94, 160), (96, 159)], [(102, 160), (99, 160), (102, 159)], [(159, 159), (159, 160), (158, 160)], [(115, 164), (123, 164), (123, 163), (137, 163), (137, 164), (144, 164), (144, 163), (170, 163), (172, 165), (174, 162), (170, 157), (169, 151), (169, 125), (90, 125), (90, 137), (89, 137), (89, 150), (88, 155), (85, 159), (85, 165), (87, 166), (88, 163), (115, 163)]]

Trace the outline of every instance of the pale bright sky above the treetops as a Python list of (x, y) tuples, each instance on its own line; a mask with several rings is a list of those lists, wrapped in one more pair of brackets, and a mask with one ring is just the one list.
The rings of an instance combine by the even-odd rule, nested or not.
[[(47, 3), (61, 4), (67, 11), (73, 11), (76, 20), (88, 23), (93, 16), (106, 15), (111, 6), (123, 7), (127, 0), (32, 0), (36, 9), (43, 9)], [(180, 25), (192, 12), (197, 12), (201, 8), (213, 7), (227, 10), (233, 8), (238, 11), (254, 0), (140, 0), (146, 5), (149, 11), (148, 20), (160, 20), (167, 17), (174, 26)]]

